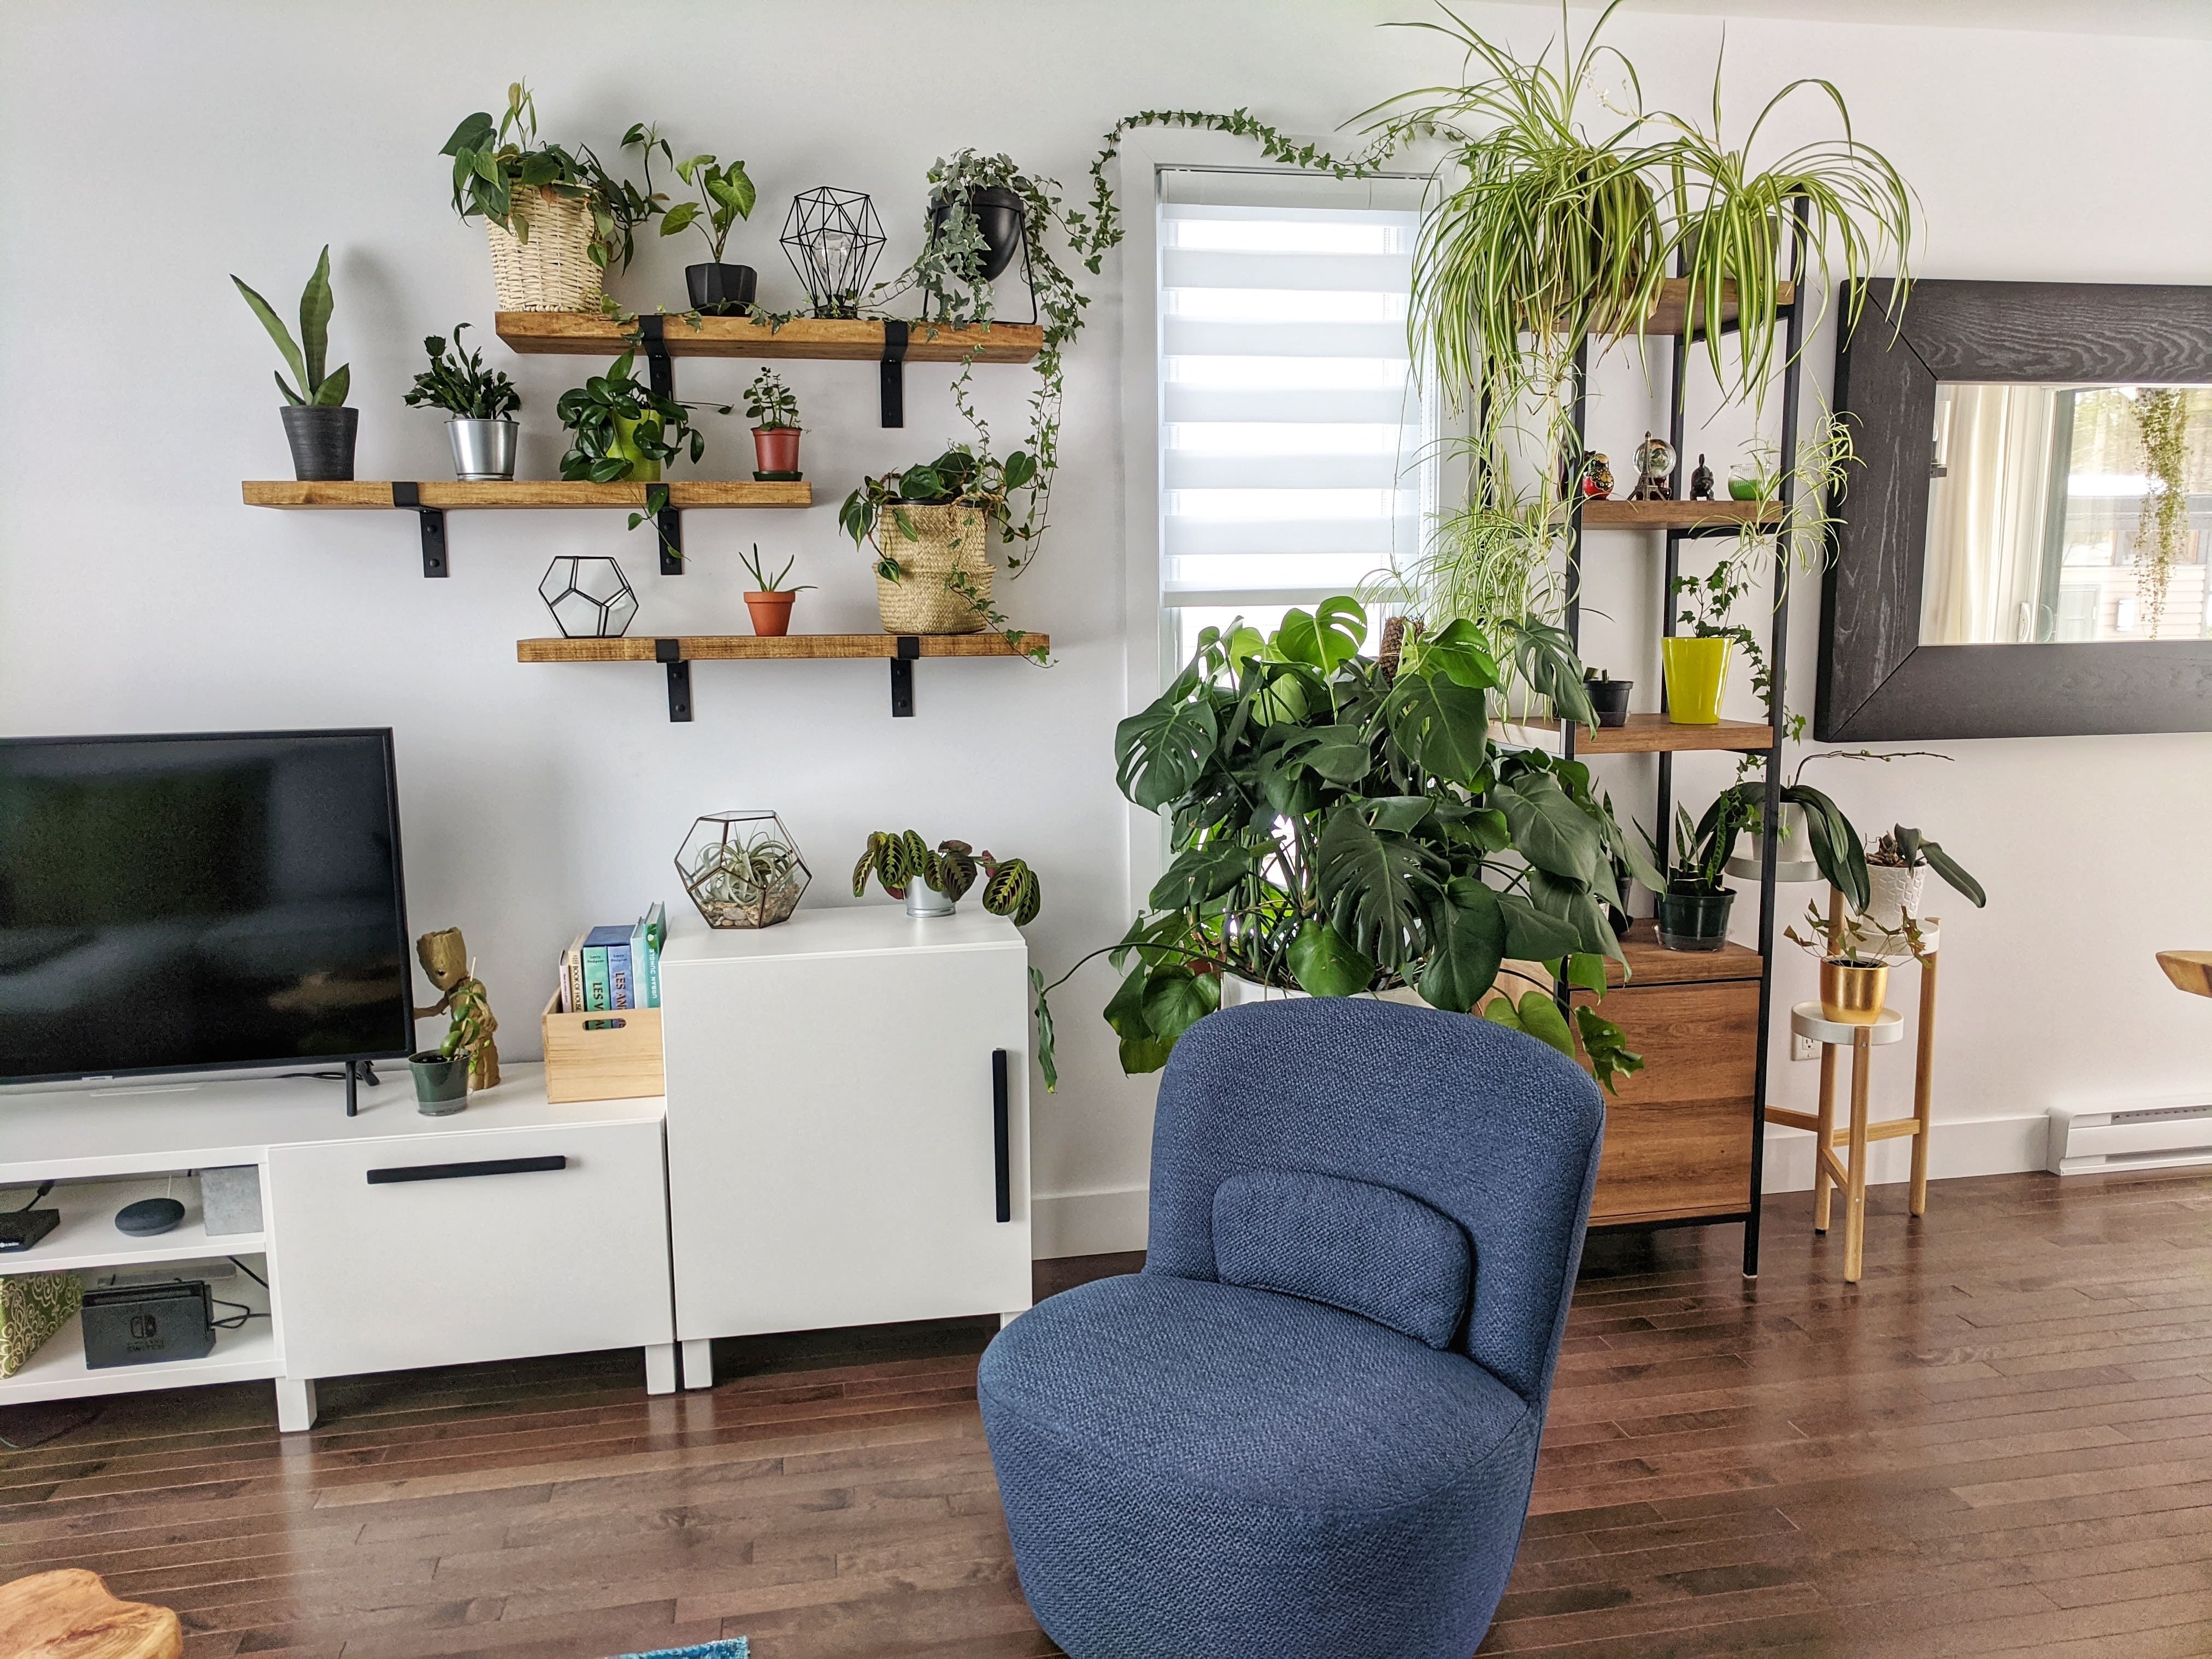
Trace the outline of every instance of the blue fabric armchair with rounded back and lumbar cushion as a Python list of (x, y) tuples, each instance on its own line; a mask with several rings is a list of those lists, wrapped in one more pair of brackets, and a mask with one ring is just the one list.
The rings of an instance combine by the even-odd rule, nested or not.
[(1604, 1102), (1544, 1044), (1374, 1000), (1208, 1015), (1141, 1274), (1051, 1296), (978, 1396), (1073, 1659), (1469, 1659), (1528, 1513)]

